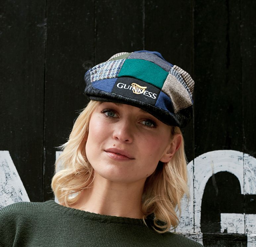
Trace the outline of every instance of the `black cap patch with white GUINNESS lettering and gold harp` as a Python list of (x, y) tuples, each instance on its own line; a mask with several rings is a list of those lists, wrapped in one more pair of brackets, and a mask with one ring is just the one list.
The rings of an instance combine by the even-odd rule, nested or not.
[(155, 105), (160, 90), (151, 84), (132, 77), (120, 77), (116, 81), (113, 93)]

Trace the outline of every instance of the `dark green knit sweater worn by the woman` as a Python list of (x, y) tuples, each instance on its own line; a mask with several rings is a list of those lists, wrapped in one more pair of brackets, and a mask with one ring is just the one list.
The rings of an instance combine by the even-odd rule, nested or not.
[(0, 246), (202, 245), (175, 233), (157, 233), (140, 219), (85, 212), (49, 200), (1, 209)]

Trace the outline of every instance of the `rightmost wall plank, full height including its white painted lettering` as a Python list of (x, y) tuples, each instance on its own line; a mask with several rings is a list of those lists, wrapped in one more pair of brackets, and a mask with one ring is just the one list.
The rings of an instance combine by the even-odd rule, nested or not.
[[(255, 55), (256, 55), (256, 17), (255, 17), (255, 1), (241, 1), (241, 55), (242, 55), (242, 96), (243, 96), (243, 151), (245, 175), (249, 175), (251, 185), (249, 192), (253, 194), (245, 195), (245, 213), (248, 215), (248, 223), (246, 230), (249, 234), (255, 234), (255, 215), (256, 215), (256, 195), (255, 195), (255, 176), (256, 169), (253, 166), (253, 157), (256, 157), (256, 111), (255, 101)], [(249, 155), (248, 155), (249, 154)], [(249, 182), (248, 181), (248, 182)], [(254, 246), (256, 239), (254, 235), (248, 237), (247, 246)]]

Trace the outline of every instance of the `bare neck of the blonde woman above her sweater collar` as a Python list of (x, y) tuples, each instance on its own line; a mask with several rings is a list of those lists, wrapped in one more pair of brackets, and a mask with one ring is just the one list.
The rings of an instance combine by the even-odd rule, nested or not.
[(144, 182), (113, 182), (95, 174), (92, 187), (81, 191), (74, 207), (102, 215), (141, 219)]

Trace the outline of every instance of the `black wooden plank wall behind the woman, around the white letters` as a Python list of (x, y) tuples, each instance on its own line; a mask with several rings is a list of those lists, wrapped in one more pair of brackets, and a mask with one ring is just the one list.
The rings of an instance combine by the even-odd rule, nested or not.
[(0, 11), (0, 150), (31, 201), (53, 197), (56, 147), (87, 103), (85, 71), (118, 52), (159, 51), (192, 75), (188, 161), (225, 149), (256, 157), (256, 1), (3, 0)]

